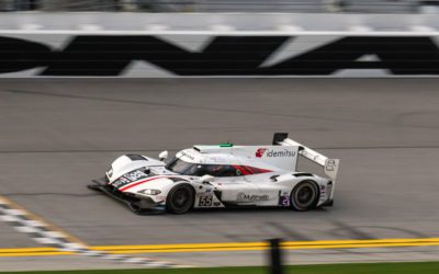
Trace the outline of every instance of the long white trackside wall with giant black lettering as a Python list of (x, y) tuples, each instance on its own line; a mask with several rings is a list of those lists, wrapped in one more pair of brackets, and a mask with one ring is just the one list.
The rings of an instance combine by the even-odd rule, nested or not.
[(14, 13), (0, 77), (437, 77), (437, 14)]

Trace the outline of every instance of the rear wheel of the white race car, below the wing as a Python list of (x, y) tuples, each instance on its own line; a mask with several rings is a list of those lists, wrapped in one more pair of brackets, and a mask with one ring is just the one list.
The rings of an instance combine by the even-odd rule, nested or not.
[(315, 208), (318, 195), (319, 192), (316, 182), (311, 180), (302, 181), (291, 192), (291, 207), (297, 212), (306, 212)]

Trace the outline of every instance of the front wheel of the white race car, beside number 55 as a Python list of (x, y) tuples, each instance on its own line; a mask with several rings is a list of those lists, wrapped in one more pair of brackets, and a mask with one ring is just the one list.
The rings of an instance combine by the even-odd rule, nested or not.
[(166, 209), (172, 214), (189, 212), (195, 202), (195, 191), (189, 184), (179, 184), (171, 189), (166, 198)]

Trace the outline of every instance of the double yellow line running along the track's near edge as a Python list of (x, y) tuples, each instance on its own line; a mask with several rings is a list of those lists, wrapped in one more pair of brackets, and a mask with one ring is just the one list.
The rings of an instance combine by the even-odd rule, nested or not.
[[(420, 239), (374, 239), (374, 240), (325, 240), (325, 241), (285, 241), (284, 250), (306, 249), (364, 249), (395, 247), (439, 247), (439, 238)], [(219, 242), (219, 243), (178, 243), (147, 246), (102, 246), (89, 247), (88, 255), (111, 254), (108, 260), (117, 260), (122, 254), (133, 253), (181, 253), (181, 252), (229, 252), (268, 250), (267, 242)], [(74, 252), (59, 251), (55, 248), (0, 249), (0, 256), (15, 255), (69, 255)], [(136, 262), (137, 258), (126, 259)]]

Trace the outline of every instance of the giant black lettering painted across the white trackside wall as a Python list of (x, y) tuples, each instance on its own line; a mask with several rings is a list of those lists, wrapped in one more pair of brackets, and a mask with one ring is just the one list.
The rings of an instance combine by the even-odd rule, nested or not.
[[(63, 48), (0, 36), (0, 76), (42, 68), (37, 76), (123, 76), (145, 61), (175, 76), (331, 76), (340, 70), (385, 70), (390, 75), (439, 75), (436, 37), (352, 36), (262, 66), (292, 36), (216, 36), (190, 52), (160, 36), (72, 35)], [(38, 39), (41, 41), (41, 38)], [(372, 60), (361, 60), (374, 56)], [(145, 77), (148, 77), (145, 72)]]

